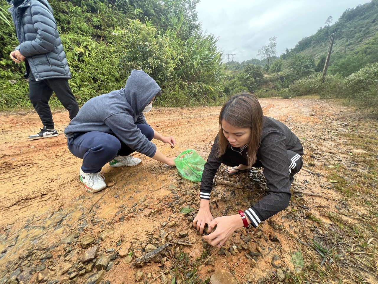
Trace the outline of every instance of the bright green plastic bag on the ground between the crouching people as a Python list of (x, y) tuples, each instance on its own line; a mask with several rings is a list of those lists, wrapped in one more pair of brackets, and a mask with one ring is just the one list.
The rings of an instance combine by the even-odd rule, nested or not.
[(183, 151), (175, 159), (178, 174), (191, 181), (201, 181), (205, 160), (195, 150)]

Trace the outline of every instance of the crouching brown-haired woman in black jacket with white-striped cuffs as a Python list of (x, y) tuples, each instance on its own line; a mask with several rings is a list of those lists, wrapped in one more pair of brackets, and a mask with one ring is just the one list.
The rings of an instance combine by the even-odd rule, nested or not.
[[(302, 167), (303, 147), (299, 139), (283, 123), (263, 115), (254, 95), (241, 94), (231, 97), (219, 115), (219, 133), (215, 137), (208, 160), (204, 166), (200, 188), (200, 209), (193, 225), (200, 233), (208, 224), (210, 245), (220, 248), (239, 228), (255, 228), (260, 222), (289, 205), (290, 185)], [(212, 183), (220, 164), (228, 165), (230, 175), (262, 167), (268, 186), (265, 195), (251, 208), (239, 214), (213, 219), (209, 200)], [(215, 231), (212, 229), (217, 226)]]

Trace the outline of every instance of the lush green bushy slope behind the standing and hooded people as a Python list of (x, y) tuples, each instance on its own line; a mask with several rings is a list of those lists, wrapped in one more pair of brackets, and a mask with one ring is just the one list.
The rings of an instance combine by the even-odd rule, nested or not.
[[(217, 38), (203, 33), (197, 23), (199, 0), (49, 2), (79, 104), (121, 89), (132, 69), (144, 70), (163, 88), (156, 105), (211, 103), (218, 98), (222, 53)], [(25, 66), (9, 58), (19, 43), (8, 8), (0, 1), (0, 109), (30, 106), (22, 78)]]

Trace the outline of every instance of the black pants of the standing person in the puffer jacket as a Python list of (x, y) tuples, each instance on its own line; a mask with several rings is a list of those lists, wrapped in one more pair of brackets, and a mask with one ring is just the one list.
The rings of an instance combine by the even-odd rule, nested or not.
[(68, 110), (70, 119), (73, 119), (79, 112), (79, 105), (68, 85), (68, 79), (51, 78), (36, 81), (33, 74), (29, 73), (29, 98), (42, 124), (47, 129), (54, 129), (53, 115), (48, 105), (53, 92), (64, 108)]

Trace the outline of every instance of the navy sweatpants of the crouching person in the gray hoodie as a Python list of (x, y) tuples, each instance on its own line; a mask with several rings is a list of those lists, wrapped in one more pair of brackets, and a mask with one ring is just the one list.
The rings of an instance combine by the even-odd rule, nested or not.
[[(136, 126), (148, 140), (153, 139), (154, 132), (150, 125)], [(75, 133), (73, 137), (68, 138), (67, 145), (74, 156), (83, 159), (81, 169), (85, 173), (98, 173), (115, 156), (128, 156), (135, 152), (114, 134), (100, 131)]]

